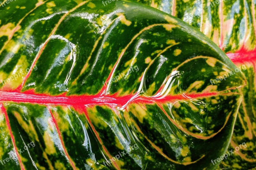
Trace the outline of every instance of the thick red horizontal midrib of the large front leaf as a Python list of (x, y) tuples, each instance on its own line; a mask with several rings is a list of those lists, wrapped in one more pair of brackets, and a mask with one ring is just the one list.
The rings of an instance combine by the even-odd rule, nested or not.
[(191, 93), (191, 94), (177, 94), (167, 95), (164, 98), (154, 98), (146, 96), (137, 96), (131, 101), (133, 95), (117, 96), (116, 94), (100, 96), (100, 95), (82, 95), (82, 96), (47, 96), (44, 94), (29, 94), (19, 92), (4, 92), (0, 91), (0, 101), (37, 103), (37, 104), (53, 104), (53, 105), (89, 105), (101, 103), (114, 103), (118, 106), (124, 106), (128, 102), (142, 102), (145, 104), (152, 104), (154, 102), (166, 103), (176, 100), (188, 100), (191, 98), (202, 98), (214, 95), (220, 95), (217, 92), (205, 93)]

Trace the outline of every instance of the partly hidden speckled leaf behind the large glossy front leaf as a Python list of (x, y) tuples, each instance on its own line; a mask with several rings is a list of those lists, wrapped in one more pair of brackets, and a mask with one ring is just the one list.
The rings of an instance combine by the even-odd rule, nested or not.
[[(241, 68), (246, 79), (243, 102), (239, 108), (228, 151), (236, 151), (221, 167), (251, 169), (256, 167), (255, 110), (255, 1), (140, 1), (172, 14), (196, 27), (227, 53)], [(240, 146), (242, 143), (246, 147)], [(248, 147), (247, 147), (248, 146)]]

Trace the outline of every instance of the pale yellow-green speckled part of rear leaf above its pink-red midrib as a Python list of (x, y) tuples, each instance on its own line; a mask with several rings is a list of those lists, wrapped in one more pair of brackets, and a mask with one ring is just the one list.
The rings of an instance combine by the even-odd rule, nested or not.
[[(256, 47), (253, 0), (137, 0), (197, 28), (224, 52)], [(216, 3), (217, 2), (217, 3)]]

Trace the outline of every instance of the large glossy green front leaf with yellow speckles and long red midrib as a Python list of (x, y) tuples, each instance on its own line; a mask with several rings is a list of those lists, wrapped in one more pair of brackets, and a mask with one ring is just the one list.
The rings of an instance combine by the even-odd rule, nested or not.
[(218, 167), (245, 78), (192, 26), (130, 1), (13, 1), (0, 34), (4, 167)]

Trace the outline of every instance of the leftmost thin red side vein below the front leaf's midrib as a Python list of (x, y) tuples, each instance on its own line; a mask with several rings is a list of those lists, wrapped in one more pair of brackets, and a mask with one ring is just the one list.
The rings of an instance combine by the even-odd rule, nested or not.
[(18, 161), (20, 163), (20, 167), (21, 167), (21, 170), (25, 170), (25, 167), (21, 161), (21, 158), (20, 158), (20, 155), (18, 153), (18, 149), (17, 149), (17, 146), (16, 146), (16, 143), (15, 143), (15, 139), (14, 139), (14, 136), (12, 134), (12, 129), (11, 129), (11, 125), (10, 125), (10, 120), (9, 120), (9, 117), (7, 115), (7, 112), (4, 108), (4, 106), (2, 104), (0, 104), (0, 108), (1, 108), (1, 111), (4, 113), (5, 115), (5, 119), (6, 119), (6, 125), (7, 125), (7, 128), (9, 129), (9, 132), (10, 132), (10, 135), (11, 135), (11, 139), (12, 139), (12, 144), (13, 144), (13, 147), (14, 147), (14, 150), (15, 150), (15, 153), (17, 155), (17, 158), (18, 158)]

